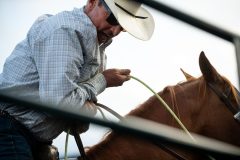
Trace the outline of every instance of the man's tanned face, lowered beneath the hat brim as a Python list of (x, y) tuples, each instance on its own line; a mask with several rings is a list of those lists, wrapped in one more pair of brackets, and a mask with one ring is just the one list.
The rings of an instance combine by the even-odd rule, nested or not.
[[(98, 42), (99, 44), (102, 44), (117, 36), (121, 31), (123, 31), (123, 28), (116, 22), (111, 23), (113, 17), (109, 17), (110, 13), (106, 6), (102, 3), (99, 4), (99, 0), (93, 1), (92, 4), (88, 4), (92, 5), (92, 8), (87, 14), (97, 28)], [(91, 3), (91, 0), (89, 3)]]

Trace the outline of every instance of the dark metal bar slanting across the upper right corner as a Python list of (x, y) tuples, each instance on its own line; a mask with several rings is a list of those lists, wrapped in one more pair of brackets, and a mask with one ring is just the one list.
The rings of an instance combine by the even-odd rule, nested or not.
[(232, 33), (231, 31), (220, 28), (220, 27), (210, 24), (206, 21), (203, 21), (196, 17), (190, 16), (189, 14), (181, 12), (177, 9), (174, 9), (170, 6), (167, 6), (157, 0), (135, 0), (135, 1), (141, 2), (149, 7), (152, 7), (154, 9), (162, 12), (162, 13), (165, 13), (169, 16), (177, 18), (183, 22), (186, 22), (192, 26), (195, 26), (199, 29), (202, 29), (208, 33), (211, 33), (211, 34), (218, 36), (222, 39), (225, 39), (227, 41), (233, 42), (234, 38), (239, 36), (235, 33)]

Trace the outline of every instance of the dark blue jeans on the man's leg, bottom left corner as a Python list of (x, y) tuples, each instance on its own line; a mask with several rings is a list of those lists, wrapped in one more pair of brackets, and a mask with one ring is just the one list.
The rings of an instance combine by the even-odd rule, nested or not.
[(19, 126), (8, 117), (0, 116), (0, 160), (33, 160), (31, 147)]

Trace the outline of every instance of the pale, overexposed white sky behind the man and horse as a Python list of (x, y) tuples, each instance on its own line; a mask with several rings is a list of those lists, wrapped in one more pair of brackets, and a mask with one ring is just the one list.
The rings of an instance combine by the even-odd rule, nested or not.
[[(15, 45), (25, 38), (28, 29), (38, 16), (72, 10), (74, 7), (80, 8), (86, 2), (86, 0), (0, 0), (0, 72), (5, 59)], [(159, 0), (159, 2), (240, 35), (239, 0)], [(120, 34), (106, 49), (107, 68), (129, 68), (133, 76), (140, 78), (158, 92), (167, 85), (185, 80), (180, 68), (195, 77), (201, 76), (198, 57), (200, 52), (204, 51), (218, 72), (239, 88), (235, 48), (232, 43), (154, 9), (148, 9), (155, 19), (155, 32), (151, 40), (140, 41), (128, 33)], [(122, 87), (106, 89), (99, 95), (98, 101), (125, 115), (150, 96), (151, 92), (138, 82), (130, 80)], [(115, 120), (111, 115), (108, 117)], [(96, 144), (108, 130), (91, 125), (89, 131), (81, 135), (84, 145)], [(64, 154), (65, 137), (66, 134), (63, 133), (54, 141), (54, 145), (59, 148), (60, 156)], [(69, 148), (68, 155), (79, 154), (73, 137), (70, 137)]]

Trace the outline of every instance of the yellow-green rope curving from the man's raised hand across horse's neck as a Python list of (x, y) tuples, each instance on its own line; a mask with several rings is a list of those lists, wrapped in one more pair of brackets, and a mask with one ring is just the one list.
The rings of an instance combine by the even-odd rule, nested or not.
[(130, 75), (132, 79), (135, 79), (136, 81), (140, 82), (143, 84), (147, 89), (149, 89), (160, 101), (160, 103), (163, 104), (163, 106), (168, 110), (168, 112), (173, 116), (173, 118), (177, 121), (177, 123), (180, 125), (180, 127), (184, 130), (184, 132), (195, 142), (195, 139), (193, 136), (190, 134), (190, 132), (187, 130), (187, 128), (183, 125), (183, 123), (179, 120), (179, 118), (176, 116), (176, 114), (171, 110), (171, 108), (167, 105), (167, 103), (164, 102), (164, 100), (152, 89), (150, 88), (146, 83), (141, 81), (140, 79)]

